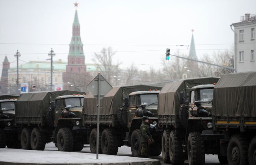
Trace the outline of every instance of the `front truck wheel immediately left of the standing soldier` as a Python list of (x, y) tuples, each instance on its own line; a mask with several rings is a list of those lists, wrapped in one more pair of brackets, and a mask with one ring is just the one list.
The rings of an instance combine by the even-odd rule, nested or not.
[(132, 156), (134, 157), (140, 157), (141, 156), (141, 129), (134, 130), (132, 132), (132, 137), (131, 137), (131, 151), (132, 151)]

